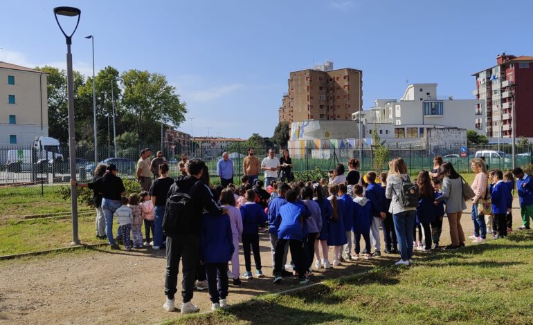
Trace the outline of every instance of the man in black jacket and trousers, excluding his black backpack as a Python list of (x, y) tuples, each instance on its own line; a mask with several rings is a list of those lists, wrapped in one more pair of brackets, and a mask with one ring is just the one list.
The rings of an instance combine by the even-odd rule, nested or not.
[(188, 229), (181, 229), (179, 236), (167, 237), (167, 273), (165, 277), (165, 295), (167, 300), (163, 308), (174, 310), (174, 295), (177, 293), (179, 260), (182, 260), (181, 272), (181, 313), (194, 313), (198, 307), (191, 302), (195, 289), (196, 269), (200, 259), (201, 214), (207, 210), (212, 215), (226, 213), (225, 208), (219, 208), (207, 185), (201, 182), (205, 163), (199, 159), (190, 160), (188, 173), (190, 176), (178, 178), (170, 187), (168, 196), (181, 192), (190, 195), (190, 224)]

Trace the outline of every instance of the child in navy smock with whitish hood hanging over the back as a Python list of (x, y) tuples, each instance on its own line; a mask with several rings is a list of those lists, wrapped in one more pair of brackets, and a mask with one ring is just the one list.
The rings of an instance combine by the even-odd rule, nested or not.
[(370, 259), (370, 223), (372, 222), (372, 206), (368, 203), (368, 198), (363, 196), (363, 187), (356, 184), (352, 188), (355, 195), (355, 219), (354, 219), (354, 242), (355, 242), (355, 259), (359, 259), (361, 252), (361, 236), (365, 239), (365, 259)]

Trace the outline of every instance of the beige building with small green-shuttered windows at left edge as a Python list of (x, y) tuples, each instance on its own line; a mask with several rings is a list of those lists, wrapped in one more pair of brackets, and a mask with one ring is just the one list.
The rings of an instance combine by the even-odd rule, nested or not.
[(0, 62), (0, 143), (48, 136), (47, 74)]

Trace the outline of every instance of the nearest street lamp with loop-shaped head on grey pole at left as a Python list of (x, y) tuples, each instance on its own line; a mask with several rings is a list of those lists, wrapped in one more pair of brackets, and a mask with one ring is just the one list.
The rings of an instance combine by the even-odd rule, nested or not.
[[(57, 22), (57, 26), (60, 26), (60, 30), (65, 36), (66, 40), (66, 86), (69, 95), (69, 159), (70, 159), (70, 169), (71, 169), (71, 179), (76, 179), (76, 139), (74, 132), (74, 91), (73, 91), (73, 76), (72, 76), (72, 53), (71, 53), (71, 44), (72, 44), (72, 35), (76, 29), (78, 29), (78, 24), (80, 24), (80, 17), (82, 10), (73, 7), (56, 7), (54, 8), (54, 17)], [(57, 16), (65, 17), (78, 17), (76, 26), (71, 33), (71, 35), (66, 35), (65, 31), (61, 27), (59, 19)], [(71, 207), (72, 207), (72, 245), (78, 245), (80, 239), (78, 237), (78, 192), (75, 185), (71, 185)]]

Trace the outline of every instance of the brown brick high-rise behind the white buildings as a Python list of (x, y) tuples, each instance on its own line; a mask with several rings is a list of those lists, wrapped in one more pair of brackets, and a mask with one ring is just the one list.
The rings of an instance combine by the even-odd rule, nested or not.
[(351, 120), (363, 108), (363, 71), (333, 70), (333, 62), (289, 74), (279, 121)]

